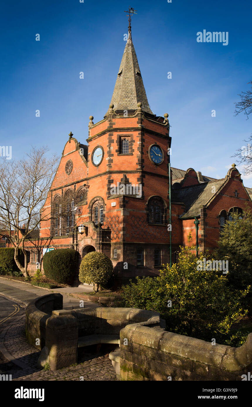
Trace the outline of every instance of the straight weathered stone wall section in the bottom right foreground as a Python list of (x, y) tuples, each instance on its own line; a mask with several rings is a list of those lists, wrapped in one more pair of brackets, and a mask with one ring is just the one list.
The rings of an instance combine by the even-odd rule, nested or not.
[(240, 348), (139, 324), (125, 326), (120, 338), (121, 380), (241, 380), (252, 369), (252, 333)]

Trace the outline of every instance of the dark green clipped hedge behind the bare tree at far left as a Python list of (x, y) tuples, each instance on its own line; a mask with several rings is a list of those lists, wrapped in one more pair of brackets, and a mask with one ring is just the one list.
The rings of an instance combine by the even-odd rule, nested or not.
[[(14, 260), (14, 253), (15, 249), (13, 248), (0, 248), (0, 274), (3, 276), (22, 276)], [(21, 249), (18, 249), (18, 258), (20, 263), (24, 265), (24, 254)]]

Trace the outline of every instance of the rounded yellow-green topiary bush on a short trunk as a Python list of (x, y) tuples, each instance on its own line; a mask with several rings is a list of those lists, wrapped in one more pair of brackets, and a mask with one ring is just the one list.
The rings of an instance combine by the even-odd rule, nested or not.
[(103, 253), (88, 253), (80, 265), (79, 280), (86, 284), (97, 284), (97, 292), (100, 284), (105, 287), (113, 274), (112, 261)]

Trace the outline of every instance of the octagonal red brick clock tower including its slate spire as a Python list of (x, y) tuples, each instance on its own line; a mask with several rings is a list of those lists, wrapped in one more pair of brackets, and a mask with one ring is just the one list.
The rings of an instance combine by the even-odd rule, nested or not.
[(158, 274), (160, 265), (169, 263), (171, 138), (168, 114), (157, 117), (149, 106), (130, 21), (110, 107), (103, 120), (93, 119), (87, 140), (88, 207), (93, 220), (99, 217), (93, 204), (103, 204), (100, 227), (111, 232), (100, 250), (120, 278)]

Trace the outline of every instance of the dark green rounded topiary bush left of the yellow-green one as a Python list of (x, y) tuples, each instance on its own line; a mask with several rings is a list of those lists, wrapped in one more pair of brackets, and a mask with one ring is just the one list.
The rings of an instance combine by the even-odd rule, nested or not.
[(73, 249), (56, 249), (44, 254), (44, 273), (59, 284), (71, 285), (77, 267), (78, 252)]

